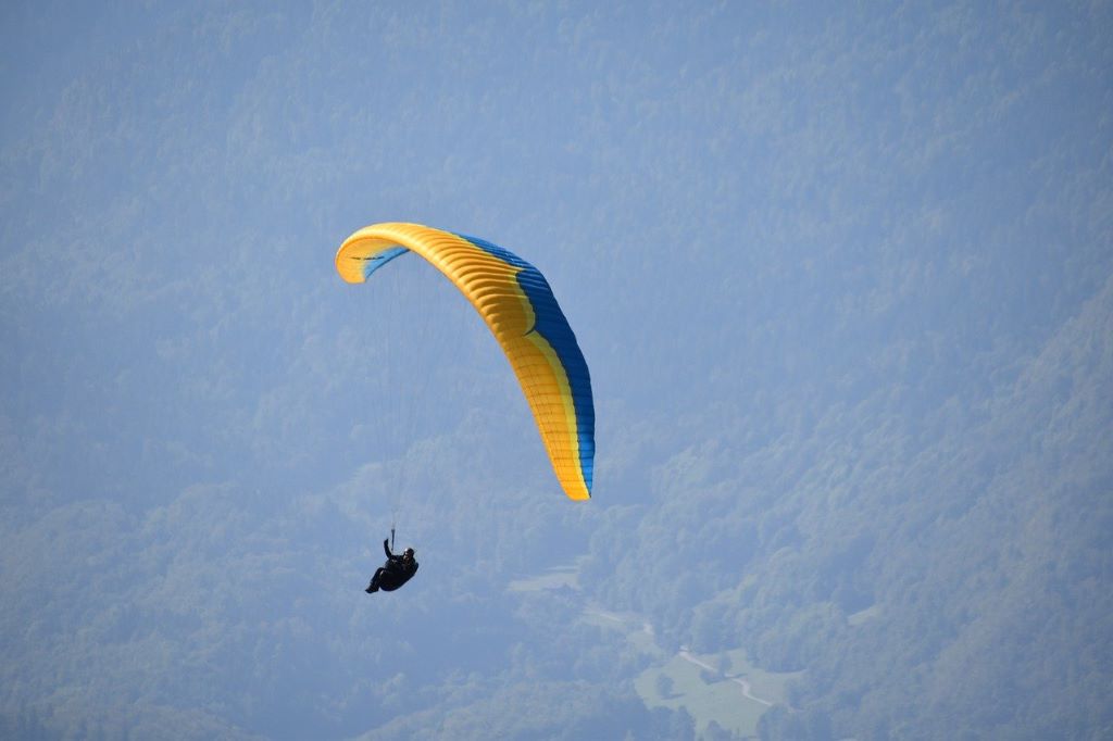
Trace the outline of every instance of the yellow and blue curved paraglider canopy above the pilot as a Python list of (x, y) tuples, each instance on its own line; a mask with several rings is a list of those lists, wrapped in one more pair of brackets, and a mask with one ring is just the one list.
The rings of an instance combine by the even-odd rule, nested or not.
[(375, 224), (349, 236), (336, 253), (336, 270), (347, 283), (364, 283), (411, 251), (443, 273), (483, 317), (518, 377), (561, 487), (572, 500), (590, 498), (591, 377), (544, 276), (483, 239), (402, 223)]

